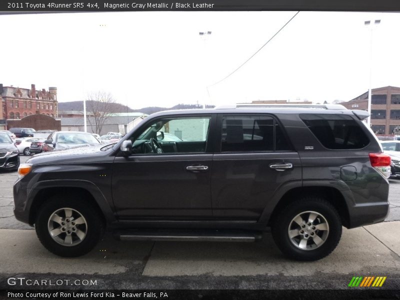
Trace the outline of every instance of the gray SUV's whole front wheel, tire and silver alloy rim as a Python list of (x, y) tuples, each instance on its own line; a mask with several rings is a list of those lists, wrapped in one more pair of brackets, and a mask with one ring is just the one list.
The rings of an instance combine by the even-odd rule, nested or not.
[(102, 219), (87, 202), (53, 197), (38, 211), (36, 234), (54, 254), (69, 257), (86, 254), (102, 236)]

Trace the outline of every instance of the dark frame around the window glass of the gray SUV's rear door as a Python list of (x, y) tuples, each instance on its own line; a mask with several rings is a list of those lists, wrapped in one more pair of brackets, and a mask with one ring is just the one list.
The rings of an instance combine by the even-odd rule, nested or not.
[[(273, 126), (273, 150), (259, 150), (259, 151), (222, 151), (222, 120), (224, 116), (269, 116), (274, 120)], [(285, 137), (290, 150), (276, 150), (276, 124), (279, 125), (283, 136)], [(281, 121), (271, 113), (256, 113), (256, 112), (229, 112), (229, 113), (218, 113), (217, 118), (217, 130), (214, 130), (217, 141), (215, 142), (215, 153), (221, 154), (242, 154), (242, 153), (285, 153), (285, 152), (297, 152), (289, 139), (287, 132), (282, 125)]]

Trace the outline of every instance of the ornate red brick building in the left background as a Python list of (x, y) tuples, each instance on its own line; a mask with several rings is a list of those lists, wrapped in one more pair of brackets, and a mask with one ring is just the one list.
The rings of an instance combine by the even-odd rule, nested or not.
[(21, 119), (32, 114), (45, 114), (57, 117), (57, 88), (36, 90), (29, 88), (3, 86), (0, 83), (1, 119)]

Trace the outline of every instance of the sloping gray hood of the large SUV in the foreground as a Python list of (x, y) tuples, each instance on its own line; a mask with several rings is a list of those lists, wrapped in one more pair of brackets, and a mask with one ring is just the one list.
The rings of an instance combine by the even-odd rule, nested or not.
[(106, 155), (110, 150), (101, 151), (104, 144), (89, 145), (83, 144), (73, 148), (57, 149), (49, 152), (42, 152), (33, 155), (26, 162), (28, 163), (84, 163), (91, 161), (91, 158), (97, 158)]

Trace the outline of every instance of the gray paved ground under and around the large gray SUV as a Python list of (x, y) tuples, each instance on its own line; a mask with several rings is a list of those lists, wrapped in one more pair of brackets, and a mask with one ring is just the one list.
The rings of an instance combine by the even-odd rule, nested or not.
[[(26, 159), (21, 156), (21, 161)], [(57, 288), (346, 289), (352, 276), (368, 275), (387, 276), (382, 288), (400, 289), (400, 180), (390, 180), (385, 222), (343, 228), (332, 254), (297, 262), (282, 256), (269, 233), (255, 243), (122, 242), (107, 233), (90, 253), (61, 258), (41, 246), (30, 226), (13, 217), (16, 176), (0, 172), (0, 288), (45, 288), (7, 283), (7, 278), (19, 276), (63, 280)], [(79, 285), (76, 279), (95, 284)]]

